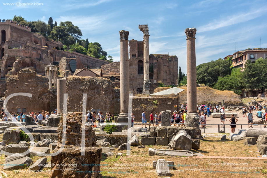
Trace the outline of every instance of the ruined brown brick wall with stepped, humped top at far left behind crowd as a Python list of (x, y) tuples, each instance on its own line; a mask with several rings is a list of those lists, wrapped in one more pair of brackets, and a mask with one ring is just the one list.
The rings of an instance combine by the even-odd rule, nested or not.
[(22, 69), (17, 76), (7, 80), (5, 97), (14, 93), (30, 93), (27, 96), (15, 96), (7, 103), (9, 112), (17, 112), (17, 108), (26, 108), (26, 112), (53, 111), (56, 108), (56, 95), (49, 90), (48, 78), (36, 75), (29, 69)]

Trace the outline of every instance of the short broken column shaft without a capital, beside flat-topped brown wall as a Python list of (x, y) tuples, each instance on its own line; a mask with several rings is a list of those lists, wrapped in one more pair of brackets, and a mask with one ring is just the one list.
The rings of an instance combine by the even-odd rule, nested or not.
[(66, 93), (66, 78), (57, 79), (56, 85), (57, 114), (63, 114), (64, 94)]

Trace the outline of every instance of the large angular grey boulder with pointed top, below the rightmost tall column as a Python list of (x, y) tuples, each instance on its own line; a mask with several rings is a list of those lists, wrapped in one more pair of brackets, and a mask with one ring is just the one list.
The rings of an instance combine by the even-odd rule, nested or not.
[(176, 150), (188, 150), (192, 148), (192, 138), (183, 130), (179, 131), (177, 135), (173, 136), (169, 146)]

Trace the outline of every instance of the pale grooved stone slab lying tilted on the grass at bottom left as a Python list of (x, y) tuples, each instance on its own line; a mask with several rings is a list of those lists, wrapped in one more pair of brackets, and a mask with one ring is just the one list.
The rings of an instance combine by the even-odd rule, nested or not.
[(19, 153), (15, 153), (11, 156), (6, 157), (4, 170), (14, 170), (14, 169), (23, 169), (30, 166), (32, 163), (31, 158), (24, 156)]

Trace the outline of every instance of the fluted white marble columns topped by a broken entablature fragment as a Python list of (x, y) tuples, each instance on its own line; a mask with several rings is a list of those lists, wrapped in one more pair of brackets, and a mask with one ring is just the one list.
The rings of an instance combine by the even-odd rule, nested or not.
[(144, 88), (143, 94), (149, 93), (149, 33), (148, 25), (139, 25), (140, 31), (144, 34)]

